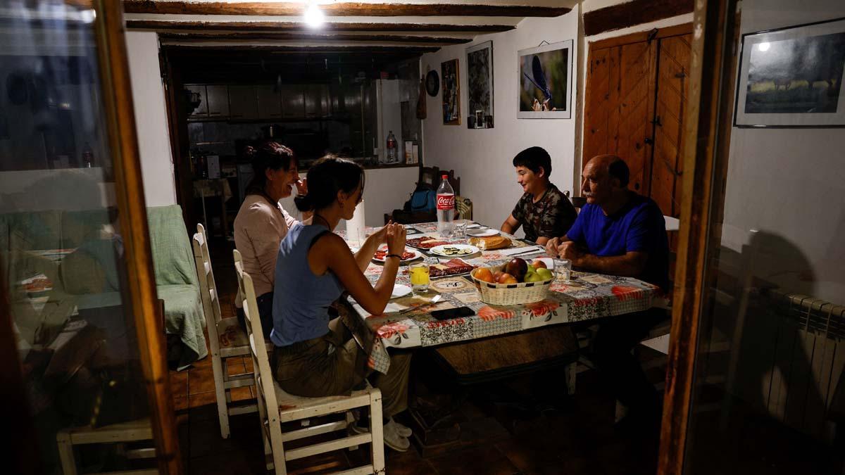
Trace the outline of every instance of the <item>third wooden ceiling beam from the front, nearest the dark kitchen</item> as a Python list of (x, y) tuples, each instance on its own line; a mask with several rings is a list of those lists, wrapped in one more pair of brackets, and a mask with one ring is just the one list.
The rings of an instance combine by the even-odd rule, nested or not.
[(302, 33), (279, 33), (268, 32), (223, 32), (223, 33), (179, 33), (161, 32), (161, 38), (167, 40), (206, 40), (206, 41), (228, 41), (228, 40), (265, 40), (265, 41), (289, 41), (289, 40), (311, 40), (311, 41), (395, 41), (401, 43), (438, 43), (444, 45), (457, 45), (469, 43), (472, 38), (447, 38), (438, 36), (411, 36), (411, 35), (309, 35)]

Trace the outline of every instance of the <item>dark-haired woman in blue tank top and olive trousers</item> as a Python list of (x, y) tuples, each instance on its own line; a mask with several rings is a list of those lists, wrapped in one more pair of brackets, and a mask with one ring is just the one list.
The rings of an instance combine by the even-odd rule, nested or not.
[[(341, 219), (352, 219), (361, 202), (363, 168), (353, 161), (327, 156), (308, 170), (308, 194), (297, 196), (297, 208), (313, 211), (310, 223), (294, 225), (279, 245), (273, 292), (275, 379), (283, 390), (297, 396), (347, 394), (368, 377), (368, 355), (336, 315), (333, 303), (348, 291), (370, 314), (384, 312), (399, 260), (405, 250), (405, 227), (388, 224), (370, 236), (352, 254), (333, 231)], [(379, 244), (386, 243), (384, 271), (375, 286), (363, 272)], [(394, 353), (387, 374), (370, 377), (382, 391), (384, 444), (407, 450), (411, 429), (392, 416), (407, 407), (411, 355)], [(363, 426), (353, 425), (362, 431)]]

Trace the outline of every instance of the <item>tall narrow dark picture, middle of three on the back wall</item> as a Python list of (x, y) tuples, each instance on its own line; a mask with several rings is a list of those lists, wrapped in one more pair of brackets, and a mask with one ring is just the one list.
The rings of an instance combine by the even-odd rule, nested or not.
[[(469, 96), (469, 128), (488, 128), (493, 117), (493, 41), (466, 48), (466, 85)], [(493, 127), (493, 120), (489, 121)]]

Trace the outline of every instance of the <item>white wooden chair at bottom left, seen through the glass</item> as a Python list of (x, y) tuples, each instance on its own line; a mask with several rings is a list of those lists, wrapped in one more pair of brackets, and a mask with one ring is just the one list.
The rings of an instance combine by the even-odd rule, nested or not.
[[(64, 475), (76, 475), (77, 473), (74, 445), (122, 444), (137, 440), (150, 440), (152, 442), (152, 438), (153, 429), (150, 425), (150, 419), (146, 418), (128, 423), (116, 423), (96, 429), (84, 426), (59, 430), (56, 434), (56, 442), (58, 444), (59, 460), (62, 462), (62, 472)], [(155, 457), (155, 448), (125, 450), (124, 453), (129, 459), (153, 458)], [(109, 473), (153, 475), (157, 474), (158, 470), (150, 468)]]

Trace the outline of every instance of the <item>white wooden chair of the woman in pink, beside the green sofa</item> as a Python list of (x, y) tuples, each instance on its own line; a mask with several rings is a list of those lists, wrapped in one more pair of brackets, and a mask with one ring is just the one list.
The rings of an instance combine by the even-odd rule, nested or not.
[(217, 399), (217, 416), (220, 418), (220, 434), (229, 438), (229, 416), (258, 411), (253, 402), (232, 404), (232, 389), (253, 385), (253, 374), (243, 373), (230, 376), (227, 368), (229, 358), (249, 354), (247, 335), (237, 319), (224, 319), (220, 312), (220, 298), (211, 270), (208, 240), (203, 225), (197, 225), (194, 234), (194, 263), (199, 276), (199, 293), (202, 297), (205, 325), (209, 332), (211, 346), (211, 369), (214, 372), (214, 387)]

